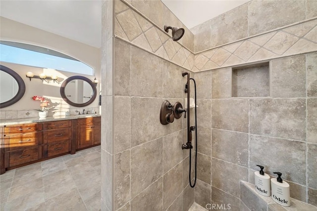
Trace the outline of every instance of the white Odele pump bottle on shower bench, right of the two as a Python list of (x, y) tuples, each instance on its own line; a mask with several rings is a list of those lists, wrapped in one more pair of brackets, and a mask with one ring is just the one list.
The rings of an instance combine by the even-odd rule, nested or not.
[(290, 194), (289, 194), (289, 184), (282, 180), (281, 172), (273, 172), (278, 175), (277, 178), (271, 178), (272, 187), (272, 199), (277, 204), (284, 207), (291, 206)]

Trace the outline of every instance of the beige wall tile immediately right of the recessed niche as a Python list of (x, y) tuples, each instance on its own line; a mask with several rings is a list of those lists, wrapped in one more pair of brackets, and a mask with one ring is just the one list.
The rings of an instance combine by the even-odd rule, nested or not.
[(305, 55), (272, 60), (272, 97), (305, 97)]

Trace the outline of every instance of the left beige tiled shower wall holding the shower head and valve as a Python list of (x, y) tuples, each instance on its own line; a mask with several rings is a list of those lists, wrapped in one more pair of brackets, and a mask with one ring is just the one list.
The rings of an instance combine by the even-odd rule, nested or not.
[(163, 23), (182, 26), (161, 1), (106, 1), (104, 15), (103, 209), (187, 211), (194, 189), (188, 151), (181, 149), (186, 119), (163, 126), (159, 112), (165, 99), (183, 104), (181, 73), (193, 66), (193, 37), (188, 33), (182, 45), (161, 31)]

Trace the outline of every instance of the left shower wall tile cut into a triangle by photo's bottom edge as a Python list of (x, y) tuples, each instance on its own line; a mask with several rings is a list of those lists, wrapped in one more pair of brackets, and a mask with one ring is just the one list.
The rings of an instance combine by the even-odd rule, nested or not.
[(131, 200), (131, 211), (162, 210), (162, 189), (162, 178), (159, 178)]

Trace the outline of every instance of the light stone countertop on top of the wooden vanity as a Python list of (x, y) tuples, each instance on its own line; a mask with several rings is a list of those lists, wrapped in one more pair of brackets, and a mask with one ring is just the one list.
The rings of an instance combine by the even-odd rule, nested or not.
[(18, 125), (18, 124), (28, 124), (28, 123), (43, 123), (59, 120), (75, 120), (81, 118), (89, 117), (101, 117), (100, 114), (82, 114), (82, 115), (70, 115), (70, 116), (55, 116), (55, 117), (45, 117), (45, 118), (23, 118), (23, 119), (11, 119), (11, 120), (0, 120), (0, 127)]

